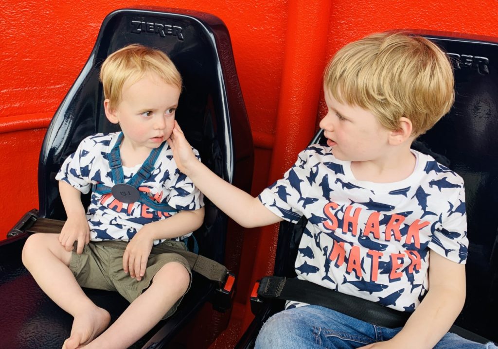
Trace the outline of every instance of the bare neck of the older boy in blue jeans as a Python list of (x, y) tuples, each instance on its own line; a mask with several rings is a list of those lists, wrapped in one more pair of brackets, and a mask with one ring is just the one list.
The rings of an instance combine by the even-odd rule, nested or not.
[(409, 147), (396, 149), (371, 161), (351, 162), (357, 180), (373, 183), (394, 183), (408, 178), (415, 169), (416, 156)]

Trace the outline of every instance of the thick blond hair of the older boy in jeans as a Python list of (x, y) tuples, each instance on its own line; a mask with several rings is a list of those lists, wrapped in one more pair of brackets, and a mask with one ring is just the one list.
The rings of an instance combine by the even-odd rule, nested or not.
[(423, 37), (403, 33), (372, 34), (344, 46), (325, 69), (324, 86), (387, 129), (399, 129), (400, 117), (407, 117), (415, 136), (448, 113), (455, 99), (446, 54)]

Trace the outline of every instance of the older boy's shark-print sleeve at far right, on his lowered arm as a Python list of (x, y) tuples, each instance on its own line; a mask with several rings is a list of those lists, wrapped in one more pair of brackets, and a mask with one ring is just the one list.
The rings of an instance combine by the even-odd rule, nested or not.
[(463, 181), (462, 187), (447, 205), (448, 210), (441, 216), (441, 224), (432, 233), (429, 248), (456, 263), (465, 264), (469, 240)]

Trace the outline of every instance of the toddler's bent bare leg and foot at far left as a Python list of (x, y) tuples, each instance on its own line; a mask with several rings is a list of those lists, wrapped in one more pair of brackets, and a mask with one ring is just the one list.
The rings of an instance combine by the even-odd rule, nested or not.
[(22, 262), (43, 292), (74, 317), (71, 337), (64, 348), (91, 341), (111, 320), (106, 310), (85, 295), (69, 269), (72, 253), (60, 244), (57, 234), (50, 233), (29, 236), (22, 250)]

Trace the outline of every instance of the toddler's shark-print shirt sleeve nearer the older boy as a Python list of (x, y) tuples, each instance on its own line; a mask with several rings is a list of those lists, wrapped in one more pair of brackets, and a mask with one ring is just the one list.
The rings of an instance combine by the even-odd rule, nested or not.
[[(192, 150), (197, 160), (201, 161), (197, 149)], [(167, 198), (169, 206), (180, 211), (194, 211), (204, 206), (204, 195), (188, 176), (177, 170), (170, 183), (172, 185)]]

